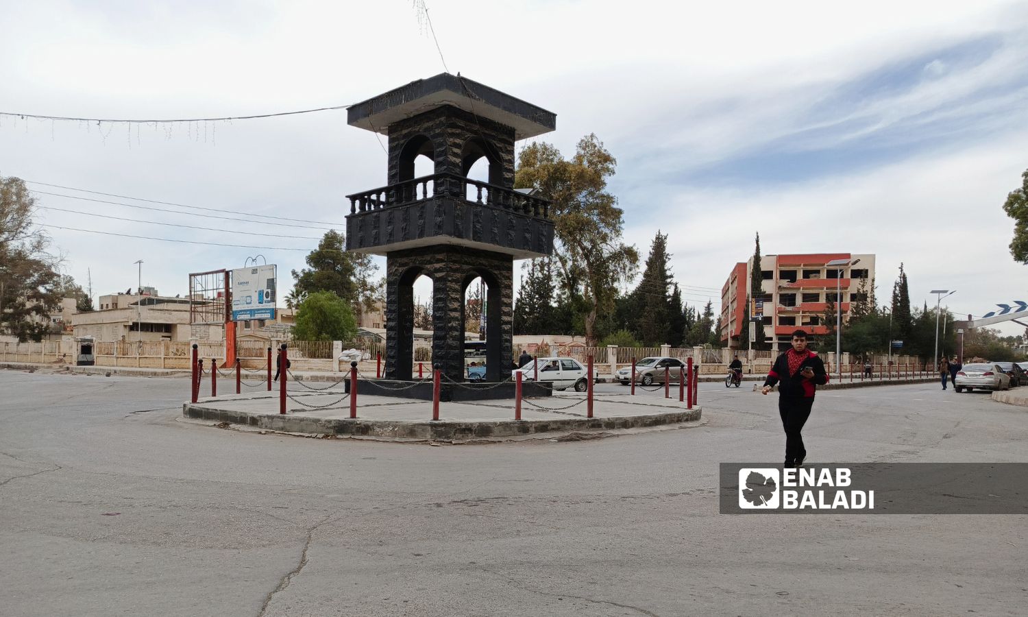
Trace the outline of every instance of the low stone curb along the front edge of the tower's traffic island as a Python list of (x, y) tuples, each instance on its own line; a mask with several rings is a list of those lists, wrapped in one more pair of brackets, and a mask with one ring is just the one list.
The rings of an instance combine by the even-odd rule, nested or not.
[(185, 403), (182, 415), (193, 420), (256, 427), (267, 431), (361, 437), (387, 437), (451, 441), (491, 437), (517, 437), (554, 432), (613, 431), (696, 422), (701, 407), (646, 415), (614, 418), (574, 418), (559, 420), (485, 421), (485, 422), (396, 422), (348, 418), (309, 418), (278, 413), (230, 411), (206, 405)]

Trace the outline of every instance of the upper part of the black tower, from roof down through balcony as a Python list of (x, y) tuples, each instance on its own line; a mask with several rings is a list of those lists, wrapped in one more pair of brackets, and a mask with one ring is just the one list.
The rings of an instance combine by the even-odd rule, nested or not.
[[(347, 195), (351, 250), (457, 244), (516, 257), (552, 253), (549, 203), (513, 187), (514, 143), (553, 131), (553, 112), (441, 73), (352, 105), (347, 121), (389, 138), (388, 185)], [(415, 178), (421, 155), (434, 173)], [(483, 157), (488, 181), (469, 179)]]

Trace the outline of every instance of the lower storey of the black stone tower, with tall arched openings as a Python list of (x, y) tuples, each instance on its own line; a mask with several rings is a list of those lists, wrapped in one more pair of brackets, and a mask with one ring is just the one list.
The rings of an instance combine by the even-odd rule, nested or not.
[(511, 374), (513, 362), (514, 260), (510, 255), (457, 246), (435, 246), (387, 255), (386, 376), (411, 378), (413, 327), (410, 286), (419, 275), (433, 281), (433, 365), (454, 382), (465, 379), (465, 290), (482, 277), (486, 299), (486, 379)]

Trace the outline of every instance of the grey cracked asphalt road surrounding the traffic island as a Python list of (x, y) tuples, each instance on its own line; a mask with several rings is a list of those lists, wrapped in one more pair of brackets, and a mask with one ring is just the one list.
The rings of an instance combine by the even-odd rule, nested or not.
[[(1024, 615), (1016, 515), (719, 515), (775, 397), (595, 441), (316, 440), (181, 421), (181, 378), (0, 371), (0, 614)], [(626, 389), (601, 386), (603, 390)], [(639, 396), (663, 396), (640, 393)], [(823, 392), (808, 461), (1028, 462), (1028, 409)]]

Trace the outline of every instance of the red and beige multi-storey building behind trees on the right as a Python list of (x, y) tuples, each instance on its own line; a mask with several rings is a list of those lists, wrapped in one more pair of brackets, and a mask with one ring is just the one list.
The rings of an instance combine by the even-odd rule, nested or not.
[[(828, 262), (848, 259), (849, 265), (828, 266)], [(745, 349), (748, 327), (745, 302), (750, 297), (763, 302), (765, 341), (773, 350), (783, 350), (793, 331), (803, 328), (814, 336), (829, 331), (823, 324), (829, 302), (838, 302), (843, 321), (849, 319), (851, 303), (866, 300), (875, 285), (875, 256), (852, 253), (761, 256), (761, 289), (751, 289), (754, 259), (736, 263), (721, 291), (721, 339), (732, 348)], [(867, 282), (861, 285), (861, 281)], [(841, 298), (836, 298), (837, 289)]]

